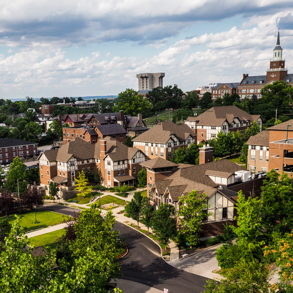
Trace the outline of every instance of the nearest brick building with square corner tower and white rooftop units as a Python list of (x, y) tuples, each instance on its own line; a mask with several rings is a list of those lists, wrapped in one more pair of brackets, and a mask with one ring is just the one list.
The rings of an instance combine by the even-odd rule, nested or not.
[[(205, 155), (209, 156), (209, 151), (205, 151)], [(155, 209), (168, 203), (178, 210), (182, 204), (179, 197), (192, 190), (207, 195), (207, 212), (212, 215), (203, 221), (201, 238), (221, 234), (226, 222), (234, 224), (237, 193), (233, 187), (239, 191), (238, 184), (242, 189), (249, 185), (251, 191), (254, 185), (258, 189), (262, 185), (262, 181), (249, 178), (250, 171), (229, 160), (205, 161), (203, 158), (200, 165), (189, 165), (156, 158), (141, 163), (147, 169), (147, 195)]]

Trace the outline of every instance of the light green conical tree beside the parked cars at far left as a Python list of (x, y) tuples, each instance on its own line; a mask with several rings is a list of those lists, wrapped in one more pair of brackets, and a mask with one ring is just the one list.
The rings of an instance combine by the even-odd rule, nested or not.
[(25, 168), (26, 165), (18, 157), (15, 157), (7, 173), (7, 181), (4, 184), (4, 188), (10, 192), (15, 192), (19, 186), (19, 192), (24, 193), (27, 187)]

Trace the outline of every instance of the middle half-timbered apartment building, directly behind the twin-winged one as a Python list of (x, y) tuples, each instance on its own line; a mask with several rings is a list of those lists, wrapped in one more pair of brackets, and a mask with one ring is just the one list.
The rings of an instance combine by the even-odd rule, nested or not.
[(195, 133), (187, 125), (177, 125), (169, 120), (160, 122), (147, 132), (132, 139), (133, 147), (142, 150), (147, 159), (161, 157), (169, 160), (173, 150), (196, 141)]

